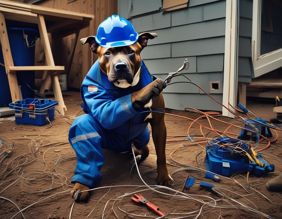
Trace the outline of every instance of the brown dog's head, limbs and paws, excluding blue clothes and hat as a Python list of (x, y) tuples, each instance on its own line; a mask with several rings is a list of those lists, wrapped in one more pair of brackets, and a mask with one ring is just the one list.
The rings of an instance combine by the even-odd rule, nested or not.
[[(157, 37), (156, 33), (141, 33), (138, 41), (129, 46), (119, 46), (105, 48), (96, 43), (95, 37), (90, 36), (81, 39), (81, 43), (89, 43), (91, 51), (98, 54), (99, 66), (104, 74), (107, 75), (108, 80), (116, 87), (127, 88), (135, 86), (140, 78), (141, 57), (140, 52), (147, 46), (148, 39)], [(162, 89), (166, 84), (161, 79), (156, 79), (139, 91), (133, 92), (131, 95), (131, 103), (134, 108), (140, 106), (147, 108), (147, 110), (163, 109), (164, 99), (162, 96)], [(152, 137), (157, 154), (157, 182), (159, 185), (171, 186), (173, 179), (170, 177), (166, 167), (166, 125), (164, 122), (163, 113), (150, 113), (145, 122), (149, 122), (152, 128)], [(141, 155), (141, 159), (149, 155), (149, 148), (145, 146), (139, 150), (135, 149), (135, 155)], [(74, 191), (88, 190), (89, 187), (76, 182), (71, 194)], [(87, 200), (88, 192), (81, 193), (80, 200)]]

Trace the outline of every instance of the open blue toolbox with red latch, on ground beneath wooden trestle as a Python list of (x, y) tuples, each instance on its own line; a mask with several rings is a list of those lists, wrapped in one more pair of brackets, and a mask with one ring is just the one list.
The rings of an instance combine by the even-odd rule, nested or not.
[(49, 120), (54, 119), (55, 106), (58, 100), (48, 99), (23, 99), (9, 104), (15, 109), (16, 124), (44, 126)]

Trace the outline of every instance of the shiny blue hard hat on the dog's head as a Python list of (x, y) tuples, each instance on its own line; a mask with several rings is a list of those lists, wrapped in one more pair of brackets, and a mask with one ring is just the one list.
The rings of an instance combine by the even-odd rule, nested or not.
[(118, 15), (112, 15), (99, 25), (95, 41), (100, 46), (109, 48), (132, 45), (138, 37), (129, 21)]

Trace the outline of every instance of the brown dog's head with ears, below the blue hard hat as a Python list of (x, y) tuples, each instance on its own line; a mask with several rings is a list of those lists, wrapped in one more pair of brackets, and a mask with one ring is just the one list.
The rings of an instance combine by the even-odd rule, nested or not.
[(140, 52), (147, 46), (148, 39), (157, 37), (156, 33), (139, 34), (136, 43), (128, 46), (102, 47), (95, 41), (95, 36), (81, 39), (89, 43), (92, 52), (98, 54), (99, 65), (110, 82), (120, 88), (135, 86), (139, 82), (141, 67)]

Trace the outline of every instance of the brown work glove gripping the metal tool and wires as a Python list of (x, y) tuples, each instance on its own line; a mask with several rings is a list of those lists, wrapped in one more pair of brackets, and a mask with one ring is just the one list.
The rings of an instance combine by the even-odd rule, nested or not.
[(153, 97), (160, 95), (162, 90), (166, 88), (166, 83), (157, 78), (155, 81), (148, 84), (146, 87), (131, 94), (131, 104), (135, 110), (146, 105)]

